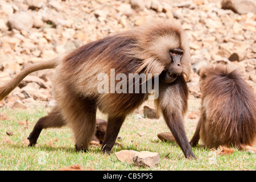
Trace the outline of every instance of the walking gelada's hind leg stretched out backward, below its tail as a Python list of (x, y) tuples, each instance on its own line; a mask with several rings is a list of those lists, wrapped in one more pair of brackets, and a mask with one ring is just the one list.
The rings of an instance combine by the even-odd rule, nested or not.
[(38, 137), (43, 129), (47, 129), (49, 127), (62, 127), (65, 126), (67, 123), (65, 119), (60, 113), (60, 110), (55, 107), (53, 110), (45, 117), (42, 117), (36, 122), (34, 129), (28, 136), (28, 140), (30, 140), (30, 144), (28, 146), (34, 146)]

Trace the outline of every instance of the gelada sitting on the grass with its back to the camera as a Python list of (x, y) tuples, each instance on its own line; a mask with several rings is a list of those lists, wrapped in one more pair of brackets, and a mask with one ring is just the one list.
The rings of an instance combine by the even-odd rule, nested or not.
[(256, 140), (256, 98), (238, 69), (217, 64), (200, 71), (201, 115), (191, 139), (205, 146), (250, 148)]

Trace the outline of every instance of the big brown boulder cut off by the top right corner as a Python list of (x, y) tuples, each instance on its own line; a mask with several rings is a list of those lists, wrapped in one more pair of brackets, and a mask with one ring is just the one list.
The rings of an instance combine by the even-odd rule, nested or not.
[(256, 2), (254, 0), (222, 0), (221, 7), (239, 14), (256, 13)]

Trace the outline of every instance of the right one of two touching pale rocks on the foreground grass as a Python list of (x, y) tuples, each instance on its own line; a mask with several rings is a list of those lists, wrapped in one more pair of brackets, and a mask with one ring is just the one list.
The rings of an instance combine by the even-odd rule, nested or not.
[(160, 162), (160, 155), (157, 152), (141, 151), (133, 156), (135, 166), (155, 167)]

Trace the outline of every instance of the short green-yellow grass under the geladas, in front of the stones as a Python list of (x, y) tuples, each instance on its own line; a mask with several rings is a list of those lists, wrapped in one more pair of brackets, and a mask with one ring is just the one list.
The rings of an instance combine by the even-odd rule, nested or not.
[[(199, 113), (200, 100), (189, 100), (190, 113)], [(197, 160), (184, 158), (176, 143), (162, 142), (159, 132), (169, 131), (163, 118), (126, 118), (119, 137), (121, 146), (114, 146), (110, 156), (100, 153), (100, 147), (90, 147), (88, 152), (76, 152), (75, 141), (69, 127), (43, 130), (35, 147), (27, 147), (27, 136), (36, 121), (47, 114), (47, 109), (27, 110), (0, 109), (0, 169), (1, 170), (57, 170), (79, 164), (84, 169), (94, 170), (255, 170), (256, 155), (234, 149), (231, 155), (219, 155), (216, 151), (201, 147), (193, 148)], [(188, 115), (187, 114), (187, 115)], [(106, 116), (97, 113), (97, 118)], [(192, 138), (196, 119), (185, 117), (188, 139)], [(6, 131), (13, 132), (12, 136)], [(143, 134), (140, 137), (139, 134)], [(121, 150), (152, 151), (160, 155), (160, 163), (154, 168), (137, 167), (119, 162), (114, 153)], [(165, 159), (164, 156), (168, 155)]]

